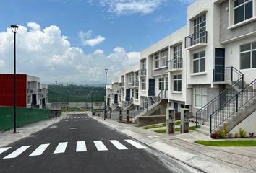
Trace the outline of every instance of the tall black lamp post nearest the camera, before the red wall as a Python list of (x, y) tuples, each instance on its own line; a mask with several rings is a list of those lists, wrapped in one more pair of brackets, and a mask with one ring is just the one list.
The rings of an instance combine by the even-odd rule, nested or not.
[(13, 133), (16, 133), (16, 33), (19, 26), (11, 25), (14, 33), (14, 111), (13, 111)]

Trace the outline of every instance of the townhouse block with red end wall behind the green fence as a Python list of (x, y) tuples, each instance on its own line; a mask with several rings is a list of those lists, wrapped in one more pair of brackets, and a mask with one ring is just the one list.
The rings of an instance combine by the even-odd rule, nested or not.
[[(17, 107), (46, 108), (48, 104), (48, 86), (40, 79), (27, 74), (17, 74)], [(0, 74), (0, 106), (13, 106), (13, 74)]]

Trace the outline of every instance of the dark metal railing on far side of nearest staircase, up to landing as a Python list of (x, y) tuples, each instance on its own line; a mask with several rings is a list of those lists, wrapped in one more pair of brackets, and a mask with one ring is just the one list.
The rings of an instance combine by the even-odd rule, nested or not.
[[(229, 68), (229, 67), (228, 67)], [(232, 81), (233, 84), (231, 86), (227, 87), (223, 92), (218, 94), (215, 98), (213, 98), (208, 104), (203, 106), (200, 110), (196, 113), (196, 126), (202, 125), (202, 123), (205, 123), (206, 120), (210, 118), (210, 115), (213, 115), (215, 112), (219, 110), (222, 105), (224, 105), (226, 102), (229, 102), (229, 99), (234, 97), (238, 92), (240, 92), (242, 89), (244, 89), (244, 74), (242, 74), (240, 71), (234, 70), (233, 68), (231, 74), (231, 79), (236, 79), (236, 76), (239, 76), (239, 79), (236, 79), (236, 81)], [(232, 77), (233, 76), (233, 77)]]

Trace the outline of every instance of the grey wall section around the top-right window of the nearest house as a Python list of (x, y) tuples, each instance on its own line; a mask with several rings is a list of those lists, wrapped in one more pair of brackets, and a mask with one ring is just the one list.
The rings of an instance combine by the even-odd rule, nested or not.
[[(245, 35), (249, 32), (256, 31), (256, 21), (255, 22), (249, 22), (245, 25), (242, 25), (241, 27), (236, 27), (232, 30), (229, 30), (229, 11), (226, 10), (226, 7), (229, 6), (229, 1), (224, 1), (220, 7), (221, 7), (221, 19), (220, 19), (220, 42), (223, 42), (225, 40), (229, 40), (234, 37), (238, 37), (240, 35)], [(233, 9), (229, 9), (233, 10)]]

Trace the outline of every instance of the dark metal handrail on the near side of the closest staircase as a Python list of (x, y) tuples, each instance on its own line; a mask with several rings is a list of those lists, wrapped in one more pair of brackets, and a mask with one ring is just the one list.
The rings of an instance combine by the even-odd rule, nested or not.
[[(252, 89), (252, 91), (248, 91), (249, 89)], [(251, 95), (249, 95), (248, 92), (252, 92)], [(247, 98), (242, 98), (240, 100), (240, 104), (239, 104), (239, 97), (244, 96), (244, 94), (246, 94)], [(231, 99), (229, 99), (228, 102), (226, 102), (225, 104), (221, 105), (221, 107), (219, 107), (219, 109), (214, 112), (212, 115), (210, 115), (210, 133), (213, 132), (213, 130), (215, 130), (219, 125), (221, 125), (225, 120), (227, 120), (229, 117), (231, 117), (235, 112), (238, 112), (238, 110), (240, 110), (245, 104), (247, 104), (247, 102), (249, 102), (251, 99), (253, 99), (254, 97), (256, 97), (256, 79), (254, 79), (249, 85), (247, 85), (246, 87), (244, 87), (244, 89), (242, 89), (240, 92), (238, 92), (236, 95), (234, 95), (234, 97), (232, 97)], [(241, 104), (242, 102), (242, 104)], [(235, 104), (232, 104), (235, 103)], [(223, 110), (224, 107), (226, 107), (227, 105), (235, 105), (234, 109), (229, 110), (231, 113), (230, 114), (226, 114), (227, 116), (223, 118), (223, 120), (219, 121), (220, 118), (218, 117), (218, 124), (216, 124), (215, 121), (213, 121), (213, 116), (217, 115), (218, 112), (220, 112), (221, 110)], [(220, 123), (221, 122), (221, 123)], [(216, 125), (214, 125), (214, 123)]]

